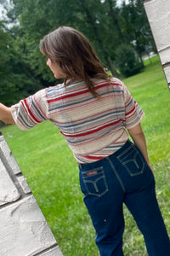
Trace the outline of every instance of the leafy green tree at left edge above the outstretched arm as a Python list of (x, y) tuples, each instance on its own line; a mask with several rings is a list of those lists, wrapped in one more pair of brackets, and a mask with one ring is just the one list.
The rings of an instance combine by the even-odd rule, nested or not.
[(34, 91), (33, 87), (40, 88), (37, 79), (28, 68), (25, 44), (19, 37), (13, 38), (13, 33), (6, 31), (3, 21), (0, 23), (0, 99), (6, 105), (18, 102)]

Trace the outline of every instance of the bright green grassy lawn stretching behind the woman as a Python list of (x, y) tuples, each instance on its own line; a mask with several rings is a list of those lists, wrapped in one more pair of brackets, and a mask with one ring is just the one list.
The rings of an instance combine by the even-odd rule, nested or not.
[[(143, 73), (123, 79), (143, 108), (142, 126), (156, 175), (156, 194), (170, 235), (170, 92), (158, 57), (145, 62)], [(21, 171), (65, 256), (97, 256), (94, 229), (82, 202), (78, 168), (71, 150), (49, 122), (30, 131), (2, 128)], [(145, 256), (144, 240), (124, 208), (126, 256)]]

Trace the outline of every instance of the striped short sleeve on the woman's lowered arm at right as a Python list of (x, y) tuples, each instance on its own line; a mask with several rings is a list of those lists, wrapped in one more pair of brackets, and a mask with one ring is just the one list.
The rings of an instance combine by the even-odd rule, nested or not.
[[(124, 85), (124, 84), (123, 84)], [(124, 85), (124, 99), (125, 99), (125, 127), (127, 129), (133, 128), (138, 125), (144, 117), (143, 110), (139, 104), (134, 101), (133, 96)]]

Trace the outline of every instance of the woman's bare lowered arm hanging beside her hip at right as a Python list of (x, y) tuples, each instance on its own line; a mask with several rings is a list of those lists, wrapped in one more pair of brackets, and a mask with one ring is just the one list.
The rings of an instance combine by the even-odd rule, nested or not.
[[(144, 132), (142, 130), (141, 125), (136, 125), (133, 128), (127, 129), (130, 137), (132, 137), (134, 144), (140, 149), (142, 154), (144, 155), (144, 159), (147, 164), (150, 166), (150, 160), (147, 153), (146, 141), (144, 137)], [(150, 167), (151, 169), (151, 167)]]

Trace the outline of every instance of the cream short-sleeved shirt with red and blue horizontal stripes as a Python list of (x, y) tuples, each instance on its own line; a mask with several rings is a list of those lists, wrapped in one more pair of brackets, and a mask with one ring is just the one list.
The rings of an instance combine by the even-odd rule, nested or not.
[(39, 90), (12, 106), (14, 121), (28, 130), (49, 119), (79, 163), (100, 160), (122, 148), (128, 138), (125, 128), (138, 125), (144, 113), (119, 79), (94, 79), (94, 86), (99, 98), (84, 82)]

